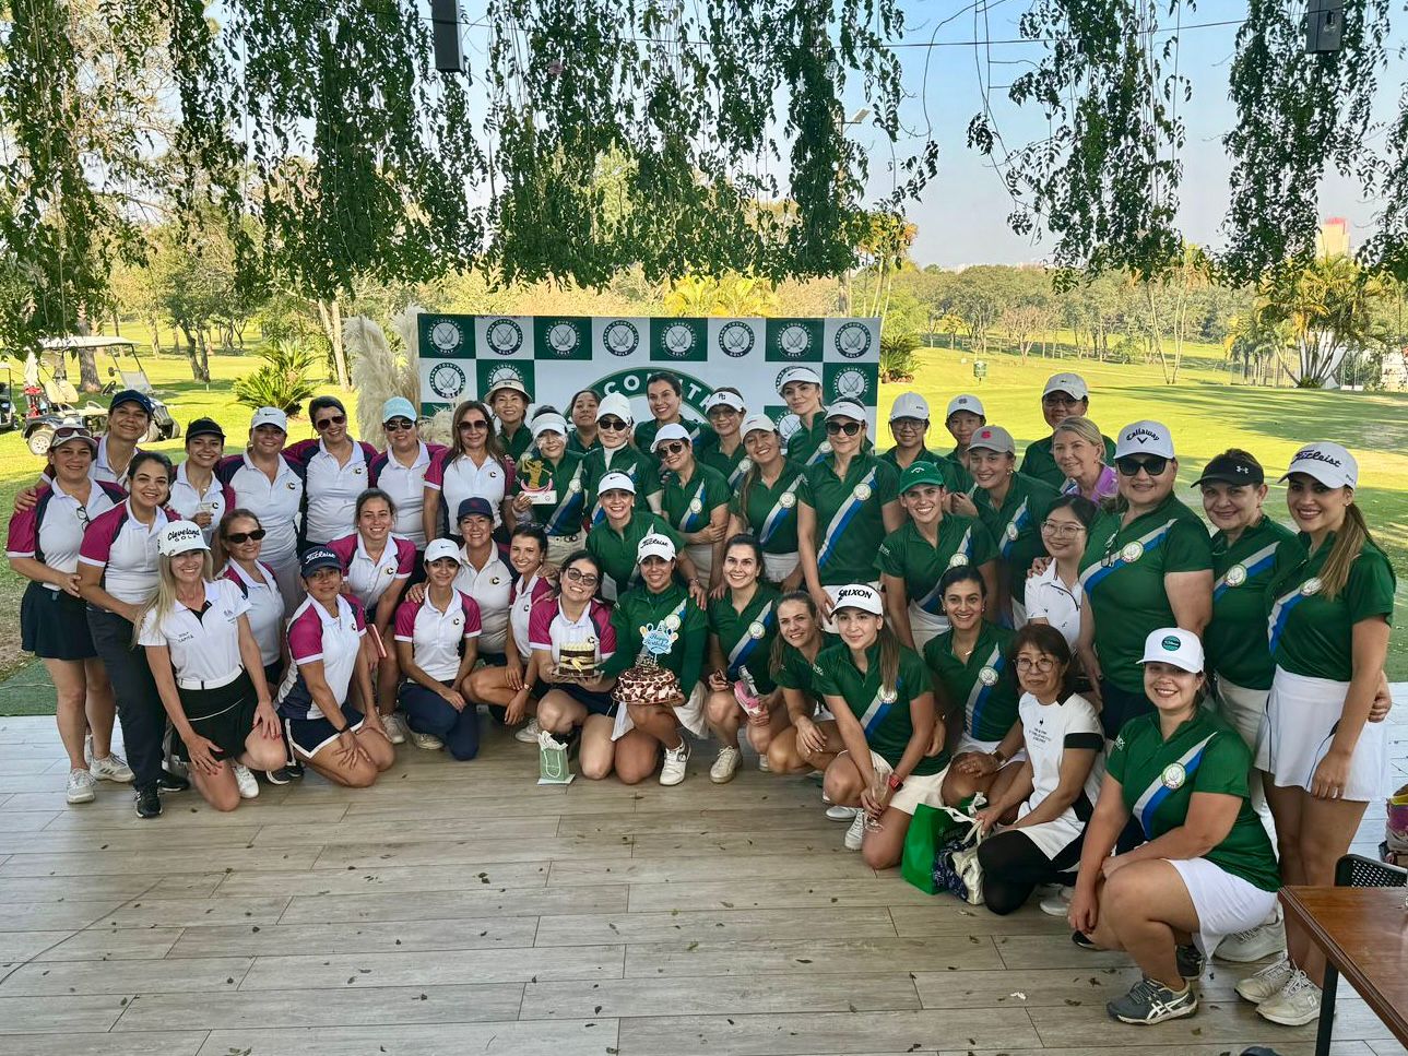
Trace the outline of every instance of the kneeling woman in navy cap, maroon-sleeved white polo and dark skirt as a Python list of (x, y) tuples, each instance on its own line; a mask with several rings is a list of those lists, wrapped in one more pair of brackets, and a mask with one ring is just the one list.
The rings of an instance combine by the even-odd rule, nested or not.
[(362, 649), (366, 618), (342, 593), (342, 560), (327, 546), (306, 551), (300, 570), (307, 596), (289, 620), (293, 663), (279, 686), (279, 715), (296, 758), (329, 781), (362, 788), (396, 762)]

